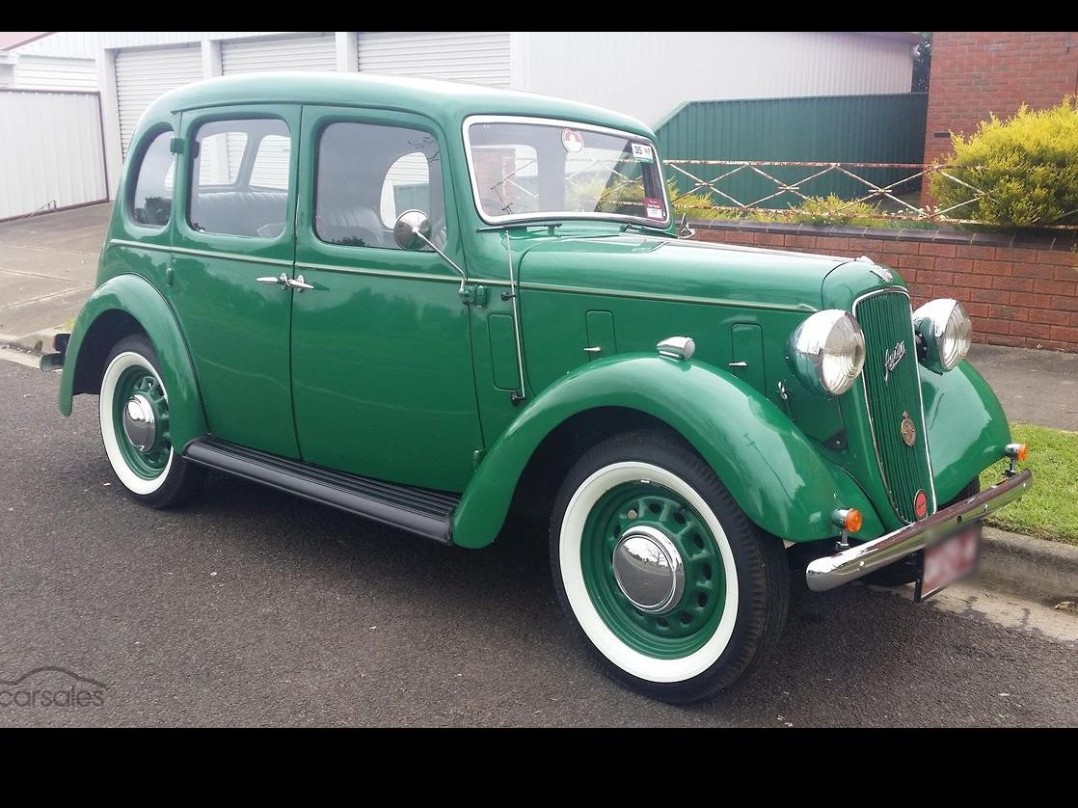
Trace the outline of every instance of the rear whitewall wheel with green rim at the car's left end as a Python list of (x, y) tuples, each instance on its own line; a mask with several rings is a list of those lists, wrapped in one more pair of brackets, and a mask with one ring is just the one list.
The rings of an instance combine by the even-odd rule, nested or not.
[(98, 400), (101, 443), (124, 488), (150, 507), (188, 501), (206, 476), (184, 460), (169, 434), (168, 390), (157, 354), (141, 334), (124, 337), (105, 363)]

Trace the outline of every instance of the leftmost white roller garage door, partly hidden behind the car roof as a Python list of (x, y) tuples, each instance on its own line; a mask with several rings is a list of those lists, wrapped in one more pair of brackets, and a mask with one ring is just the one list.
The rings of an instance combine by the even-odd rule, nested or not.
[(132, 135), (146, 108), (163, 93), (202, 78), (199, 46), (116, 52), (120, 144), (125, 158)]

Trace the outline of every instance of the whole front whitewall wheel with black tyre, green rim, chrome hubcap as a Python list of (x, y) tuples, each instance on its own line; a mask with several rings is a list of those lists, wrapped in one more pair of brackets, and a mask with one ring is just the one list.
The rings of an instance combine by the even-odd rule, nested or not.
[(550, 530), (555, 589), (617, 681), (683, 703), (774, 650), (789, 568), (711, 469), (662, 432), (617, 435), (572, 468)]

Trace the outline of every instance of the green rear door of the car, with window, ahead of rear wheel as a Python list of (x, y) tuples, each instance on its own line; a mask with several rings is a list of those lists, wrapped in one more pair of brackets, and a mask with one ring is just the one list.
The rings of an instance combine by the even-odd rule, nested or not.
[(183, 113), (170, 295), (210, 431), (289, 458), (299, 122), (299, 107)]

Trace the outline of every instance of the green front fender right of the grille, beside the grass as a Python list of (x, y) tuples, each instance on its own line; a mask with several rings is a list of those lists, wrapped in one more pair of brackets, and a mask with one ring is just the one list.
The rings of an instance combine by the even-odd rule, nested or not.
[(946, 502), (1004, 457), (1010, 424), (989, 382), (968, 362), (948, 373), (921, 367), (936, 499)]

